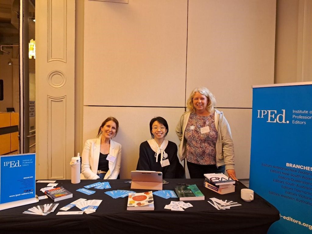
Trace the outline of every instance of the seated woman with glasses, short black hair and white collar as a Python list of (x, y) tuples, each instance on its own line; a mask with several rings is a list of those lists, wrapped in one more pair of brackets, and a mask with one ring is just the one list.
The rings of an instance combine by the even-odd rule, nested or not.
[(163, 178), (182, 178), (184, 168), (178, 161), (178, 147), (165, 140), (169, 129), (166, 119), (155, 117), (149, 122), (152, 139), (140, 145), (137, 170), (160, 171)]

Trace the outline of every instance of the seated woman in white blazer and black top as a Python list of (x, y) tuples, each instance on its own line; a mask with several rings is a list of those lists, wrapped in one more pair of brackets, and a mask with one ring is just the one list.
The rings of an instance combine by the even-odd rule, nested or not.
[(101, 124), (97, 138), (85, 142), (81, 160), (81, 179), (117, 179), (121, 163), (121, 145), (112, 140), (119, 124), (108, 117)]

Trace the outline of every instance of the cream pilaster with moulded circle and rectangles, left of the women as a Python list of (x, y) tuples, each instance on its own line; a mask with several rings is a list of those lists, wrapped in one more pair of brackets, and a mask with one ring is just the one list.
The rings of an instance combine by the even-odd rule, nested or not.
[(70, 179), (75, 138), (75, 1), (36, 2), (36, 177)]

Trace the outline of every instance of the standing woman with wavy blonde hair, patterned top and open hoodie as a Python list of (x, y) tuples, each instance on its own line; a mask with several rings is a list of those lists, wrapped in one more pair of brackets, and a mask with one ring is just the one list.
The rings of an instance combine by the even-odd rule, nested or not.
[(222, 111), (214, 109), (216, 99), (205, 87), (197, 87), (187, 101), (189, 111), (178, 122), (180, 159), (187, 159), (191, 178), (206, 173), (224, 173), (237, 180), (234, 170), (234, 145), (230, 126)]

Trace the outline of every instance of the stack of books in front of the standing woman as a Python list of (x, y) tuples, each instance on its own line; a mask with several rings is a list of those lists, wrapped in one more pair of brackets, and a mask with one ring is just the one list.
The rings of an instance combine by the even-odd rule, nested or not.
[(204, 187), (220, 194), (235, 192), (235, 180), (228, 178), (223, 173), (204, 174)]

